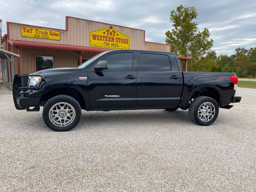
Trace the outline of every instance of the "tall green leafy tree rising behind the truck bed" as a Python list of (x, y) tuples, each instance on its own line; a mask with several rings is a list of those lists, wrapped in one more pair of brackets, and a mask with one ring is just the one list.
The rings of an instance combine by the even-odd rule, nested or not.
[(209, 30), (204, 28), (202, 32), (199, 31), (197, 17), (195, 7), (180, 5), (177, 10), (171, 11), (170, 22), (173, 28), (166, 31), (165, 42), (172, 45), (172, 52), (199, 59), (211, 49), (213, 40), (208, 40)]

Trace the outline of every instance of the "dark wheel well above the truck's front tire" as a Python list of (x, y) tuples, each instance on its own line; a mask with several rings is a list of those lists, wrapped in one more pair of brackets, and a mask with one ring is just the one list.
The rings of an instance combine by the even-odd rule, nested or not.
[(83, 95), (76, 89), (68, 87), (58, 87), (51, 91), (45, 92), (41, 97), (40, 105), (44, 106), (49, 99), (56, 95), (69, 95), (73, 97), (75, 100), (77, 100), (77, 102), (81, 106), (81, 109), (85, 109), (85, 101)]

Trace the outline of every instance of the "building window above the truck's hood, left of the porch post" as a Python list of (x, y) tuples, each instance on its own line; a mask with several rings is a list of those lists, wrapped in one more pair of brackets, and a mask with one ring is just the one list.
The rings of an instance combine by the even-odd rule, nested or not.
[(37, 56), (36, 55), (36, 71), (53, 68), (52, 56)]

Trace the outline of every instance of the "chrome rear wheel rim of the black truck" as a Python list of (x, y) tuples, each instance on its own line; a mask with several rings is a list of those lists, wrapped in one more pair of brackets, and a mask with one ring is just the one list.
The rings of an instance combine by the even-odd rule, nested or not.
[(203, 103), (198, 109), (198, 117), (201, 121), (210, 121), (215, 114), (215, 107), (211, 102)]

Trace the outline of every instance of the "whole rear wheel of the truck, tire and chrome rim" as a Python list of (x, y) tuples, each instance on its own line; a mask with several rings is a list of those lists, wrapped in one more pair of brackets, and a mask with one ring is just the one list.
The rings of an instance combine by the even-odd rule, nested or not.
[(196, 97), (188, 108), (190, 119), (199, 125), (210, 125), (218, 117), (218, 103), (211, 97), (199, 96)]

